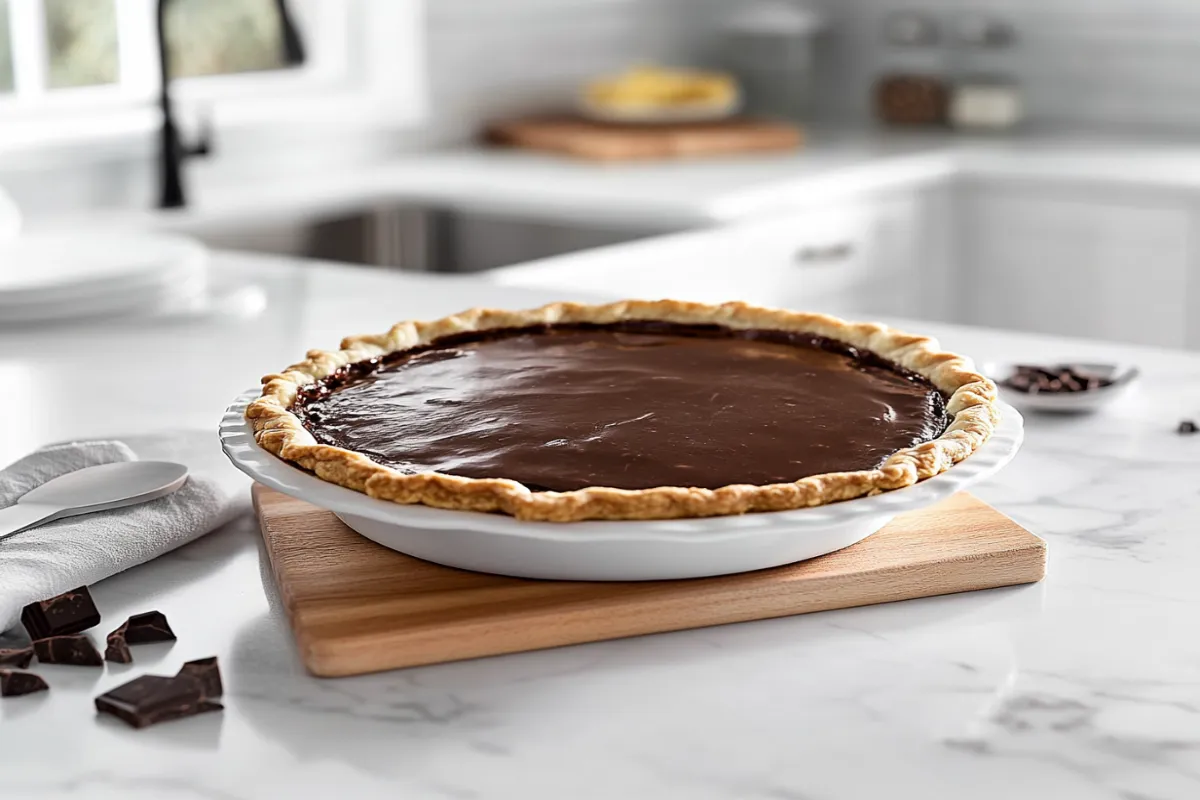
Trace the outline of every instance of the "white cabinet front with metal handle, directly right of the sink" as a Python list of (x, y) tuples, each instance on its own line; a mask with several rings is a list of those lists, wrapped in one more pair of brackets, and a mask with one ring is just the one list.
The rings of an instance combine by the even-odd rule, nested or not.
[(925, 311), (920, 196), (906, 192), (793, 211), (644, 243), (535, 261), (485, 277), (564, 296), (744, 300), (851, 315)]

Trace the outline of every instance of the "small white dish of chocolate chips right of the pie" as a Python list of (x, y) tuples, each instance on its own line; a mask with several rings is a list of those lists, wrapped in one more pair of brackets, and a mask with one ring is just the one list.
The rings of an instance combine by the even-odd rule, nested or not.
[(984, 372), (1003, 398), (1040, 411), (1092, 411), (1111, 403), (1136, 380), (1138, 368), (1118, 363), (989, 363)]

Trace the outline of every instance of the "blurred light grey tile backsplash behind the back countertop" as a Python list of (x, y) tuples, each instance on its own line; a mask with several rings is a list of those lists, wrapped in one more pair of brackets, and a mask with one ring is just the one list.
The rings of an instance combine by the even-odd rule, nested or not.
[[(434, 0), (428, 5), (432, 132), (461, 138), (479, 120), (562, 106), (581, 80), (632, 61), (712, 60), (714, 25), (752, 0)], [(800, 2), (802, 0), (797, 0)], [(812, 0), (818, 118), (870, 119), (870, 88), (892, 70), (1016, 78), (1031, 124), (1049, 128), (1200, 131), (1200, 0)], [(1012, 24), (989, 52), (883, 42), (895, 11)]]

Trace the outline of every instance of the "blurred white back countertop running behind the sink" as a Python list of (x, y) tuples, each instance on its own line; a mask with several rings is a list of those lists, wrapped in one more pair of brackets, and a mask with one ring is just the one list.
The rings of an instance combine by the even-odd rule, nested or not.
[(971, 175), (1194, 194), (1200, 192), (1200, 146), (1152, 138), (816, 128), (796, 152), (692, 161), (596, 164), (518, 150), (466, 148), (400, 155), (368, 168), (233, 186), (205, 185), (202, 172), (193, 176), (192, 204), (184, 210), (89, 212), (34, 222), (149, 225), (186, 233), (383, 203), (665, 230)]

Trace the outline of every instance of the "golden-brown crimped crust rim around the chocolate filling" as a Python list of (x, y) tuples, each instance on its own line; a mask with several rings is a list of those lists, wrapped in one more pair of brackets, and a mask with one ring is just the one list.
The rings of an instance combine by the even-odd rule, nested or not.
[[(811, 475), (791, 483), (732, 485), (716, 489), (662, 486), (649, 489), (587, 487), (532, 492), (506, 479), (470, 479), (443, 473), (404, 474), (350, 450), (319, 444), (292, 413), (298, 392), (340, 367), (427, 344), (452, 333), (542, 324), (660, 320), (718, 324), (732, 329), (803, 331), (871, 350), (929, 379), (947, 397), (950, 423), (941, 437), (898, 451), (876, 469)], [(935, 339), (877, 323), (848, 323), (816, 313), (720, 306), (676, 300), (630, 300), (601, 306), (552, 303), (529, 311), (473, 308), (433, 321), (404, 321), (386, 333), (354, 336), (340, 350), (311, 350), (281, 373), (263, 378), (262, 397), (246, 409), (254, 438), (270, 452), (322, 480), (401, 504), (500, 512), (520, 519), (672, 519), (754, 511), (785, 511), (877, 494), (932, 477), (973, 453), (991, 435), (998, 411), (996, 386), (970, 359), (944, 353)]]

